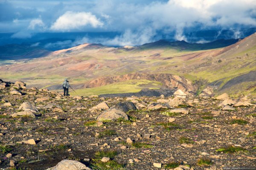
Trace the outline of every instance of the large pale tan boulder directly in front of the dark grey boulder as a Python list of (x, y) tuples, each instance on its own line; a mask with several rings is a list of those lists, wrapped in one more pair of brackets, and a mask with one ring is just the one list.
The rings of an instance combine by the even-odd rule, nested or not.
[(101, 120), (115, 120), (115, 119), (125, 119), (128, 120), (128, 116), (127, 114), (125, 114), (123, 111), (117, 110), (116, 108), (111, 108), (108, 109), (107, 111), (101, 113), (98, 117), (97, 117), (97, 121), (101, 121)]

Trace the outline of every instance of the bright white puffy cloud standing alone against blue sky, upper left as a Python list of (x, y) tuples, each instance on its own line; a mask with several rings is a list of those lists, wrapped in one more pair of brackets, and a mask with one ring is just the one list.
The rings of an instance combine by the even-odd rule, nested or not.
[(97, 28), (103, 26), (103, 23), (90, 12), (67, 11), (52, 24), (50, 29), (55, 31), (80, 30), (88, 25)]

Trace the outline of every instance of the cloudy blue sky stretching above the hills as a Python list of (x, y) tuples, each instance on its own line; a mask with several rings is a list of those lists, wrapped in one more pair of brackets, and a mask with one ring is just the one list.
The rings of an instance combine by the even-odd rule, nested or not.
[(38, 33), (119, 32), (72, 43), (124, 46), (163, 35), (189, 41), (185, 32), (198, 30), (230, 30), (230, 38), (241, 38), (247, 28), (256, 28), (256, 0), (0, 0), (0, 33), (12, 33), (15, 39)]

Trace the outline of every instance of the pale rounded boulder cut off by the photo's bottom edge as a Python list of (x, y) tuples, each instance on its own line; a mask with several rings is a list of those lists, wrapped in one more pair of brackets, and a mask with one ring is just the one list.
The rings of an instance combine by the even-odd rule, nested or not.
[(64, 159), (60, 161), (55, 167), (48, 168), (47, 170), (91, 170), (91, 169), (79, 161)]

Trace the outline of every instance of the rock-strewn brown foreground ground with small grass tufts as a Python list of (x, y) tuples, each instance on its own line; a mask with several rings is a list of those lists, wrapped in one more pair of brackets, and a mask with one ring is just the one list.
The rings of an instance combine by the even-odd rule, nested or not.
[(65, 97), (22, 82), (1, 88), (3, 169), (46, 170), (64, 159), (93, 170), (255, 165), (256, 99), (180, 91), (168, 98)]

